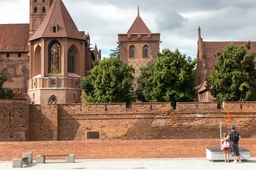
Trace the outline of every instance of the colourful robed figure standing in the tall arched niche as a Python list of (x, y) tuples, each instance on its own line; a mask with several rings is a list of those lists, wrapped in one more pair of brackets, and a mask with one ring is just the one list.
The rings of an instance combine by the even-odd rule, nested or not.
[(58, 44), (53, 44), (52, 45), (52, 68), (51, 71), (52, 73), (59, 73), (59, 63), (60, 63), (60, 53), (59, 53), (59, 45)]

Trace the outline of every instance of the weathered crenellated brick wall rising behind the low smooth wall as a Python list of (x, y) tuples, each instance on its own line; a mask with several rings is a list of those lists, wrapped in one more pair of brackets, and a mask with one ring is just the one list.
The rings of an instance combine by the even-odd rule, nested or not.
[[(217, 103), (177, 103), (176, 110), (171, 110), (171, 103), (133, 103), (132, 109), (125, 103), (0, 103), (2, 142), (215, 139), (219, 122), (227, 133), (227, 113), (233, 116), (230, 125), (236, 125), (243, 138), (256, 138), (256, 102), (224, 102), (222, 109)], [(99, 139), (87, 139), (87, 132), (99, 132)]]

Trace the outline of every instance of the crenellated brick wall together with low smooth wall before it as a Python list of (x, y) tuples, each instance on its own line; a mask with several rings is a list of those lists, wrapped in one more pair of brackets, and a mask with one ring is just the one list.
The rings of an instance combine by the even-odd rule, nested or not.
[[(239, 146), (256, 156), (256, 102), (30, 105), (0, 100), (0, 160), (23, 152), (75, 154), (76, 159), (205, 157), (219, 146), (227, 113)], [(99, 139), (87, 139), (99, 132)], [(59, 157), (49, 159), (62, 159)]]

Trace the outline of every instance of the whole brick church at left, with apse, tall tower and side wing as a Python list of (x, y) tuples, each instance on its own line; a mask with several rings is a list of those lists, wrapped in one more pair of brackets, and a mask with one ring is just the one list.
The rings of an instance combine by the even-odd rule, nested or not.
[[(81, 103), (80, 80), (101, 59), (62, 0), (30, 0), (29, 24), (0, 25), (0, 71), (13, 99), (32, 104)], [(96, 55), (96, 56), (95, 56)]]

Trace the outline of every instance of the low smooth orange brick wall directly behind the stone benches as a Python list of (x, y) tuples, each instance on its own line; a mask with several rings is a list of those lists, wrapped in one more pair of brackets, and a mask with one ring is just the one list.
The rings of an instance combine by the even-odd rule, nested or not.
[[(219, 140), (0, 142), (0, 160), (12, 160), (24, 152), (33, 152), (33, 159), (44, 154), (75, 154), (75, 159), (206, 157), (206, 147), (219, 147)], [(256, 156), (256, 139), (241, 139), (239, 146), (249, 149), (250, 156)]]

